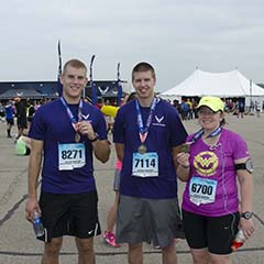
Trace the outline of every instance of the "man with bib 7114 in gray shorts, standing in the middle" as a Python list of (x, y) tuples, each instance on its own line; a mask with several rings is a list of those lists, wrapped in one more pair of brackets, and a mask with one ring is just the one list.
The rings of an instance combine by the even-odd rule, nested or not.
[(123, 162), (117, 242), (129, 243), (129, 263), (142, 264), (142, 242), (162, 248), (163, 263), (177, 263), (174, 239), (183, 238), (175, 168), (186, 130), (177, 110), (154, 95), (154, 68), (132, 70), (138, 99), (120, 108), (114, 122), (117, 155)]

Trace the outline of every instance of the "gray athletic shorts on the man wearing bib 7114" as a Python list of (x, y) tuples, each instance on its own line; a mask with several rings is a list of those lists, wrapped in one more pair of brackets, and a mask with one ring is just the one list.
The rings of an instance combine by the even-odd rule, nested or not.
[(166, 248), (176, 238), (185, 238), (177, 198), (143, 199), (120, 196), (118, 243), (146, 242)]

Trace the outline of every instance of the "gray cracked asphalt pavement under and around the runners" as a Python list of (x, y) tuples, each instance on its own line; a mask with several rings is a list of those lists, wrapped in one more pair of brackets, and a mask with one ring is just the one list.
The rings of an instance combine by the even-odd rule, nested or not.
[[(227, 116), (227, 128), (239, 132), (246, 140), (254, 163), (254, 223), (255, 233), (232, 254), (233, 264), (264, 263), (264, 114), (238, 119)], [(197, 120), (184, 121), (188, 132), (198, 130)], [(13, 128), (13, 133), (16, 129)], [(111, 140), (111, 135), (109, 135)], [(14, 139), (8, 139), (6, 123), (0, 122), (0, 264), (41, 263), (43, 243), (36, 241), (32, 226), (25, 220), (28, 156), (14, 155)], [(116, 154), (112, 145), (107, 164), (96, 162), (96, 180), (99, 193), (99, 218), (102, 230), (108, 210), (113, 202), (112, 180)], [(184, 184), (179, 183), (179, 200)], [(193, 263), (186, 241), (177, 243), (178, 264)], [(101, 237), (95, 239), (96, 260), (99, 264), (127, 263), (127, 246), (108, 248)], [(77, 250), (73, 238), (65, 238), (61, 263), (77, 263)], [(144, 244), (144, 263), (158, 264), (161, 251)]]

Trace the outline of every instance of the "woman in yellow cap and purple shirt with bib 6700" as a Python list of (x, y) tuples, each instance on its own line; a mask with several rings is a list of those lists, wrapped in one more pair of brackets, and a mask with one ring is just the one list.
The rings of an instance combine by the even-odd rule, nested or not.
[(183, 220), (195, 264), (230, 264), (238, 230), (246, 239), (254, 231), (252, 162), (242, 136), (223, 128), (223, 108), (218, 97), (200, 99), (201, 129), (187, 138), (177, 155), (178, 178), (187, 183)]

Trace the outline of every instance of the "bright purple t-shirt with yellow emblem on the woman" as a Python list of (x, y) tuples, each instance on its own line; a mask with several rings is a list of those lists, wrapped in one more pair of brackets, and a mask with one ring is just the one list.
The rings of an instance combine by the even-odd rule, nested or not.
[[(189, 135), (187, 142), (191, 138), (193, 135)], [(239, 134), (226, 129), (222, 129), (218, 143), (212, 147), (207, 145), (201, 138), (191, 144), (189, 157), (191, 177), (184, 191), (183, 209), (209, 217), (237, 212), (239, 210), (239, 198), (234, 161), (249, 156), (245, 141)], [(202, 189), (198, 191), (198, 188), (204, 187), (204, 185), (195, 185), (191, 189), (190, 182), (191, 178), (194, 180), (194, 177), (198, 180), (208, 179), (217, 184), (215, 202), (196, 205), (190, 201), (190, 191), (195, 190), (201, 194)], [(204, 189), (205, 194), (207, 188)], [(209, 194), (211, 194), (211, 190)]]

